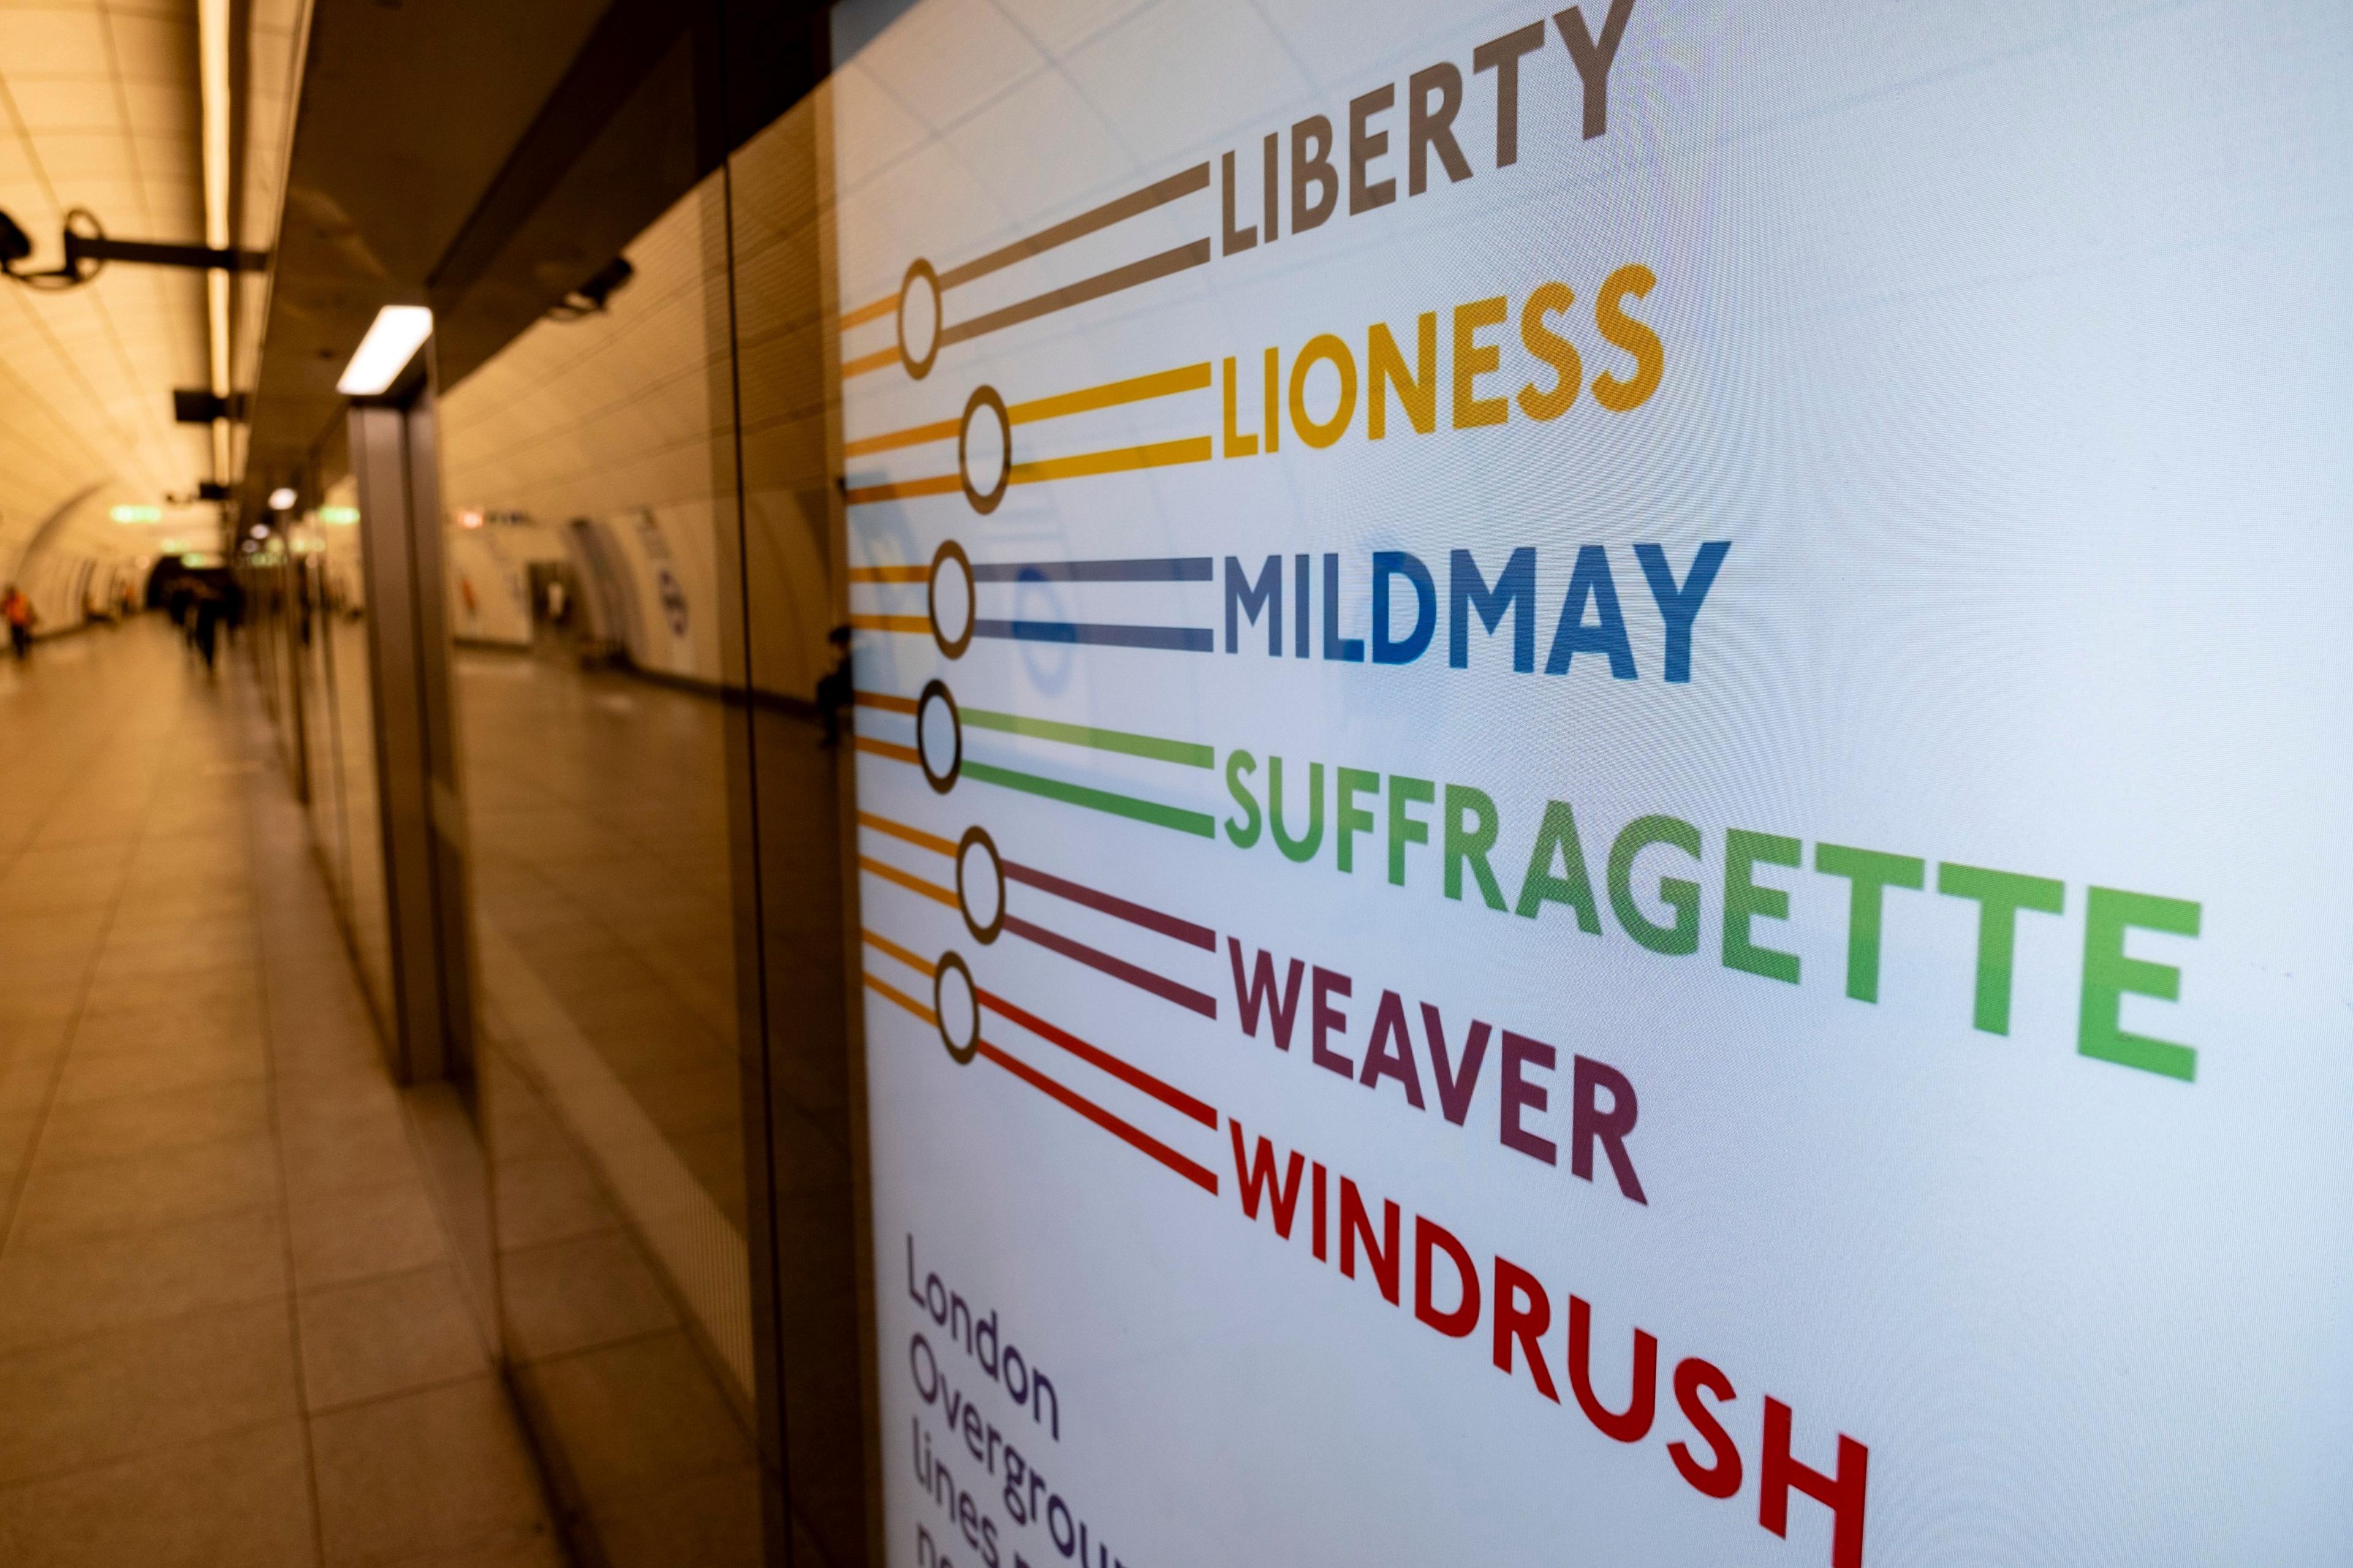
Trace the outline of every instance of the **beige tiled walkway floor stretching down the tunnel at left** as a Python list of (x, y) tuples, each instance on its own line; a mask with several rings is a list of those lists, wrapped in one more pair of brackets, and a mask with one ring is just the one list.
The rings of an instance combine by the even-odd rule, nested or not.
[(0, 669), (0, 1563), (560, 1563), (240, 669)]

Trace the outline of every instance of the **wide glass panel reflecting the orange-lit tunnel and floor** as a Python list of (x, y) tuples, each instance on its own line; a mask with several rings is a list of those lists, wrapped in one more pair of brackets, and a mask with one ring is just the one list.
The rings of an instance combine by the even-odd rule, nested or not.
[(440, 400), (506, 1347), (584, 1554), (694, 1563), (760, 1549), (722, 212)]

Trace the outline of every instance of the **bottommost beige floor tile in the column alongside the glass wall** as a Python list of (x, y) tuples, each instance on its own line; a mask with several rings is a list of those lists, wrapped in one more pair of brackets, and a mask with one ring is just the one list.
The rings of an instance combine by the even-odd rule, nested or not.
[(311, 1443), (332, 1566), (400, 1563), (544, 1528), (532, 1460), (489, 1377), (320, 1415)]

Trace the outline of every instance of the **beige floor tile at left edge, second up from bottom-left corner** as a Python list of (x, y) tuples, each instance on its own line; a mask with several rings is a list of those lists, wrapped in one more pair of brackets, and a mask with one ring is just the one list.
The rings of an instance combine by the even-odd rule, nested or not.
[(0, 1356), (0, 1486), (299, 1415), (282, 1300)]

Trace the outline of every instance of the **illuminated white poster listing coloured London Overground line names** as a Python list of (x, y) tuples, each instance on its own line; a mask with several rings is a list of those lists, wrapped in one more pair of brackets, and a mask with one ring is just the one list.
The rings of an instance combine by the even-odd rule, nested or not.
[(835, 31), (889, 1561), (2353, 1561), (2353, 12)]

